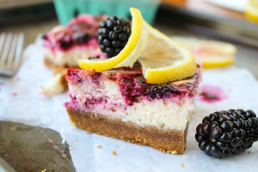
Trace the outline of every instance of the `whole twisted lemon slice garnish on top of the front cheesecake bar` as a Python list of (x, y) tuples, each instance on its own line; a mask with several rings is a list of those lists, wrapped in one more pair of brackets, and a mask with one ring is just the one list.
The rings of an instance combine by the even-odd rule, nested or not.
[(138, 59), (147, 83), (167, 83), (195, 74), (197, 65), (188, 50), (150, 26), (138, 9), (131, 7), (130, 13), (132, 34), (122, 51), (109, 59), (78, 60), (81, 69), (132, 67)]

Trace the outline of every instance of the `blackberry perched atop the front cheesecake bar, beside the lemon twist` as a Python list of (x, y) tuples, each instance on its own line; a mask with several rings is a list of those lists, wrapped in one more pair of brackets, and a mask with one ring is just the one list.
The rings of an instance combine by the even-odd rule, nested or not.
[(131, 25), (128, 21), (112, 15), (99, 23), (98, 43), (102, 52), (114, 57), (127, 44), (131, 35)]

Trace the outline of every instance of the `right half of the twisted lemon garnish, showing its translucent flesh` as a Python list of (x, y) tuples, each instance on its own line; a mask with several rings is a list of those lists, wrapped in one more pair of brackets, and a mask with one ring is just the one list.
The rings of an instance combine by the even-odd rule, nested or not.
[(167, 83), (191, 77), (197, 65), (192, 54), (143, 20), (147, 43), (138, 62), (146, 83)]

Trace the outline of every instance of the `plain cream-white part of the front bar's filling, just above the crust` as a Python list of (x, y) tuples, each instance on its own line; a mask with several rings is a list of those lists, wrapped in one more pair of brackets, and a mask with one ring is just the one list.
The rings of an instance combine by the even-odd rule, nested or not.
[(181, 106), (175, 102), (164, 101), (163, 99), (153, 101), (140, 100), (132, 106), (115, 106), (112, 110), (103, 108), (102, 105), (96, 105), (96, 108), (90, 110), (90, 112), (113, 119), (121, 119), (123, 122), (130, 121), (140, 126), (151, 125), (159, 129), (184, 131), (194, 106), (191, 98), (180, 101), (184, 101)]

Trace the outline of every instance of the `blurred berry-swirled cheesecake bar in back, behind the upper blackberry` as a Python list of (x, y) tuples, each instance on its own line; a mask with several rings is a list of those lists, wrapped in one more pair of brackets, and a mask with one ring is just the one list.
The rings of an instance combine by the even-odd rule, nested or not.
[(45, 64), (50, 68), (78, 67), (78, 59), (106, 58), (97, 42), (99, 22), (106, 15), (81, 14), (67, 26), (56, 26), (43, 36)]

